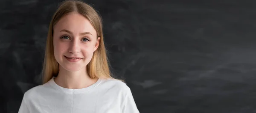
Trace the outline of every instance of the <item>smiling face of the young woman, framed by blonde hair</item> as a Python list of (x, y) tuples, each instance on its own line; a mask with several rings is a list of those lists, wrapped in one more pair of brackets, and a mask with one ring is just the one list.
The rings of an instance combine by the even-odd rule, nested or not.
[(85, 70), (99, 47), (99, 37), (90, 21), (77, 13), (62, 17), (53, 28), (54, 57), (70, 72)]

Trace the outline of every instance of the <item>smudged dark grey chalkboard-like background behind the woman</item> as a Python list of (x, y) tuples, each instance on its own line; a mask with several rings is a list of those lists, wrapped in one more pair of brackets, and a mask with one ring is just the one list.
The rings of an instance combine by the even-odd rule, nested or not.
[[(0, 113), (40, 84), (62, 0), (0, 0)], [(141, 113), (256, 113), (256, 0), (85, 0)]]

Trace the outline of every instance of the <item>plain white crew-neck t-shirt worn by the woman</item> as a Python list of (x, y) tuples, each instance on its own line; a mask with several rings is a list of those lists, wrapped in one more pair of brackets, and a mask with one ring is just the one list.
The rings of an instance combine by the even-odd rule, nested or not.
[(81, 89), (63, 88), (53, 77), (25, 92), (18, 113), (139, 113), (130, 88), (119, 80), (99, 79)]

